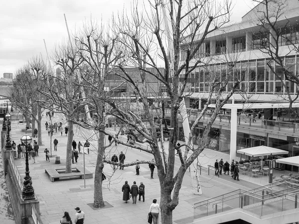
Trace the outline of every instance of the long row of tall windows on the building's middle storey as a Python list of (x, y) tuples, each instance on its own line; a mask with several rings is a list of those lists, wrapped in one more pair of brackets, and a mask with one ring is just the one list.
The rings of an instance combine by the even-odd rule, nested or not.
[[(273, 67), (275, 73), (270, 69), (268, 63)], [(299, 76), (299, 56), (285, 58), (284, 67), (291, 73)], [(233, 68), (233, 77), (229, 78), (226, 91), (230, 91), (234, 81), (240, 80), (240, 89), (250, 93), (296, 93), (293, 82), (287, 81), (281, 66), (268, 59), (250, 60), (238, 62)], [(209, 80), (217, 78), (223, 81), (227, 78), (226, 64), (212, 64), (195, 68), (190, 73), (186, 92), (208, 92)], [(182, 77), (181, 77), (182, 78)], [(285, 86), (281, 80), (284, 81)]]

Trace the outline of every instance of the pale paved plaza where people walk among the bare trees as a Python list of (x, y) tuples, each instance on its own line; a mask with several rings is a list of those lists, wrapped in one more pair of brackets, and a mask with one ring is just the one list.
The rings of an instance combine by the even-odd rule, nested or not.
[[(32, 160), (29, 160), (30, 176), (32, 177), (33, 187), (35, 195), (40, 202), (40, 213), (43, 224), (57, 224), (65, 211), (70, 213), (72, 220), (75, 217), (75, 208), (80, 209), (85, 213), (86, 224), (142, 224), (147, 223), (147, 216), (149, 213), (149, 206), (152, 203), (152, 199), (157, 199), (159, 204), (160, 199), (160, 186), (154, 170), (154, 179), (150, 179), (150, 170), (147, 164), (141, 165), (140, 175), (137, 176), (135, 167), (126, 167), (124, 170), (116, 170), (113, 173), (113, 168), (110, 165), (105, 165), (104, 173), (106, 174), (107, 180), (103, 182), (103, 197), (107, 203), (107, 207), (101, 209), (93, 208), (93, 194), (94, 194), (94, 178), (86, 179), (85, 183), (82, 179), (72, 180), (59, 180), (51, 182), (48, 175), (45, 174), (45, 168), (65, 166), (66, 158), (66, 144), (67, 137), (64, 134), (57, 131), (52, 136), (58, 140), (58, 150), (54, 151), (52, 148), (52, 157), (50, 163), (46, 162), (45, 148), (50, 150), (50, 136), (45, 130), (45, 122), (48, 121), (47, 117), (43, 117), (42, 121), (42, 141), (43, 146), (39, 147), (39, 156), (36, 157), (36, 163), (33, 164)], [(64, 121), (62, 117), (55, 114), (54, 122)], [(65, 127), (65, 122), (63, 128)], [(11, 140), (14, 140), (17, 144), (20, 143), (19, 139), (24, 134), (21, 132), (25, 124), (19, 124), (18, 121), (12, 121), (11, 124)], [(85, 139), (88, 138), (91, 142), (90, 154), (85, 154), (85, 167), (90, 172), (95, 172), (96, 166), (96, 136), (93, 136), (91, 131), (83, 130), (80, 127), (74, 128), (73, 139), (78, 143), (81, 141), (84, 144)], [(113, 128), (110, 128), (113, 132)], [(92, 137), (91, 137), (92, 136)], [(127, 140), (127, 136), (123, 136), (124, 141)], [(36, 139), (37, 138), (33, 138)], [(108, 143), (108, 137), (106, 137)], [(145, 144), (141, 144), (146, 147)], [(166, 144), (167, 145), (167, 144)], [(53, 147), (53, 144), (52, 144)], [(117, 147), (113, 144), (106, 150), (106, 155), (111, 157), (114, 153), (119, 154), (123, 151), (126, 154), (126, 162), (132, 162), (136, 159), (139, 160), (151, 160), (153, 156), (151, 154), (142, 152), (140, 150), (132, 149), (131, 147), (125, 147), (118, 145)], [(55, 164), (55, 157), (60, 157), (60, 164)], [(220, 159), (220, 158), (218, 158)], [(25, 175), (25, 159), (16, 159), (19, 173)], [(179, 168), (179, 158), (175, 169)], [(83, 154), (79, 154), (78, 165), (83, 165)], [(276, 171), (275, 171), (276, 172)], [(215, 177), (211, 171), (211, 175), (207, 175), (207, 170), (204, 169), (201, 175), (201, 189), (202, 195), (196, 196), (193, 194), (190, 181), (190, 173), (187, 172), (182, 188), (180, 190), (180, 201), (179, 205), (173, 212), (173, 223), (174, 224), (189, 224), (193, 222), (193, 209), (194, 203), (202, 200), (226, 194), (236, 189), (249, 190), (257, 188), (258, 185), (267, 184), (267, 177), (251, 178), (248, 175), (240, 175), (240, 181), (234, 181), (230, 175), (221, 175), (220, 178)], [(126, 204), (122, 201), (123, 193), (122, 186), (128, 181), (129, 185), (132, 186), (133, 182), (136, 181), (137, 185), (143, 182), (145, 185), (145, 202), (138, 201), (137, 204), (130, 203)], [(161, 222), (159, 218), (159, 222)], [(7, 221), (8, 224), (8, 221)], [(10, 224), (10, 223), (9, 223)]]

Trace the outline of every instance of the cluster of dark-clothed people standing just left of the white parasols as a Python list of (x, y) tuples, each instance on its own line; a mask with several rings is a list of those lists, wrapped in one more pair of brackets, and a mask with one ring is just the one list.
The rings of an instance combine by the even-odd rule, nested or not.
[(231, 172), (231, 177), (234, 180), (238, 180), (239, 181), (239, 164), (235, 162), (235, 160), (232, 160), (231, 165), (226, 161), (224, 163), (223, 159), (221, 159), (219, 162), (218, 160), (216, 160), (215, 164), (214, 164), (214, 168), (215, 168), (215, 176), (219, 176), (222, 175), (222, 170), (224, 172), (224, 175), (227, 172), (227, 175), (229, 175), (229, 172)]

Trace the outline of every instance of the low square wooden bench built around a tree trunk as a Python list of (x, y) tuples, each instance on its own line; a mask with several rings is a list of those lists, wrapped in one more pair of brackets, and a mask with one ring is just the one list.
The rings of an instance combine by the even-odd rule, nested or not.
[[(76, 165), (72, 167), (72, 173), (64, 173), (65, 167), (46, 168), (45, 173), (49, 175), (51, 182), (58, 181), (60, 178), (78, 177), (84, 179), (84, 167)], [(93, 173), (85, 169), (85, 179), (93, 178)]]

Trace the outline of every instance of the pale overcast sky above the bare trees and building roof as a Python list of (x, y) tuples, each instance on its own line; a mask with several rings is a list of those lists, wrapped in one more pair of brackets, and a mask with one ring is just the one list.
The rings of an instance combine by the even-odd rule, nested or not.
[[(139, 0), (142, 1), (142, 0)], [(254, 7), (253, 0), (233, 0), (232, 22)], [(0, 77), (14, 73), (37, 54), (46, 55), (55, 43), (67, 39), (64, 13), (70, 31), (82, 26), (90, 16), (110, 18), (131, 0), (5, 0), (0, 7)]]

